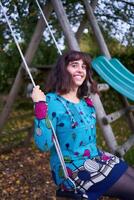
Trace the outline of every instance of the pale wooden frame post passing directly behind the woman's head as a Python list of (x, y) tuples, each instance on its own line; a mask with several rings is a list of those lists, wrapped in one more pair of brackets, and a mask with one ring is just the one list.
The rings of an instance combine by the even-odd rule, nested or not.
[[(67, 19), (67, 16), (65, 14), (65, 11), (64, 11), (61, 1), (60, 0), (52, 0), (51, 2), (53, 4), (54, 10), (57, 14), (58, 20), (62, 26), (62, 29), (65, 33), (69, 47), (79, 51), (80, 48), (79, 48), (78, 42), (71, 30), (69, 21)], [(102, 128), (104, 137), (106, 138), (106, 141), (107, 141), (107, 144), (108, 144), (110, 150), (112, 152), (114, 152), (117, 147), (117, 143), (116, 143), (111, 126), (109, 124), (107, 124), (107, 125), (103, 124), (102, 118), (106, 117), (106, 113), (105, 113), (105, 110), (103, 108), (103, 105), (101, 103), (101, 100), (100, 100), (98, 94), (93, 95), (93, 102), (95, 104), (98, 122)]]

